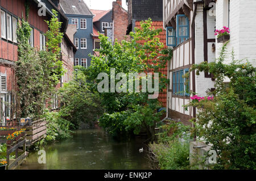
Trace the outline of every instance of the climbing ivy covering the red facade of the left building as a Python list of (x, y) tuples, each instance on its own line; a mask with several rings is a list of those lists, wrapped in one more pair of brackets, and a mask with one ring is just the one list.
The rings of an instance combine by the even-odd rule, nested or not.
[(59, 28), (57, 12), (52, 10), (52, 19), (47, 22), (49, 30), (46, 33), (46, 50), (38, 51), (28, 43), (30, 25), (24, 19), (18, 24), (18, 61), (15, 64), (15, 75), (11, 82), (16, 102), (13, 110), (17, 117), (38, 118), (43, 115), (44, 100), (49, 99), (51, 92), (64, 73), (60, 58), (60, 47), (63, 33)]

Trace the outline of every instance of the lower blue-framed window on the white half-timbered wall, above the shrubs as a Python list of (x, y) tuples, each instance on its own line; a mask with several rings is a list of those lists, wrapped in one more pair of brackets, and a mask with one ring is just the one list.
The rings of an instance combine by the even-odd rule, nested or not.
[(172, 73), (172, 94), (189, 96), (189, 79), (183, 78), (188, 69), (182, 69)]

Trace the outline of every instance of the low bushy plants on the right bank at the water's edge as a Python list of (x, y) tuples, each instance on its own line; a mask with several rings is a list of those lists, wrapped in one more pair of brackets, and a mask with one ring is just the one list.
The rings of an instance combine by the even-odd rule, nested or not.
[(158, 142), (149, 145), (160, 169), (189, 169), (189, 127), (170, 121), (162, 129)]

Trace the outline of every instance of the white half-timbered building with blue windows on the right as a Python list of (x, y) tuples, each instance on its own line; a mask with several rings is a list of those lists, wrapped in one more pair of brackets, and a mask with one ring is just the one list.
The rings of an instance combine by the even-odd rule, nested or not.
[[(218, 43), (216, 29), (230, 28), (227, 53), (232, 49), (235, 58), (247, 58), (256, 65), (256, 1), (255, 0), (163, 0), (163, 24), (167, 30), (167, 45), (173, 48), (169, 61), (168, 116), (180, 119), (184, 124), (196, 116), (196, 110), (185, 111), (188, 91), (205, 96), (214, 89), (214, 79), (208, 72), (199, 76), (192, 72), (189, 86), (185, 86), (182, 75), (192, 64), (212, 62), (224, 43)], [(229, 62), (230, 56), (226, 58)], [(227, 80), (228, 81), (228, 80)], [(187, 90), (187, 91), (185, 91)]]

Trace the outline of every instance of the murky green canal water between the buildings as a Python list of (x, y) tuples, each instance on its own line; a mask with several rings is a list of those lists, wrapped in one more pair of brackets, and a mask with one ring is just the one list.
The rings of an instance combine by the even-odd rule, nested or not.
[(144, 138), (116, 141), (101, 129), (79, 130), (71, 140), (45, 146), (46, 164), (38, 162), (38, 152), (30, 153), (18, 169), (150, 169)]

